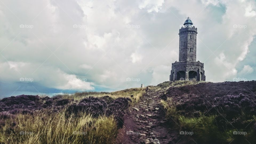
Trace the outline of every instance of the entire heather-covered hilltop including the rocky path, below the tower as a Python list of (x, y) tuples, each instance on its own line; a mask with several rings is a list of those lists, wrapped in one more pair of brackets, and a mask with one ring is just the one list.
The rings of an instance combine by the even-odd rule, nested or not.
[(3, 98), (0, 140), (2, 143), (255, 143), (255, 94), (256, 81), (168, 81), (111, 93)]

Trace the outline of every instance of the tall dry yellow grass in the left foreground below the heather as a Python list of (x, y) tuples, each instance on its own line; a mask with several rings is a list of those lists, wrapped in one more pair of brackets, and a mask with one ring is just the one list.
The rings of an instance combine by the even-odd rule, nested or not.
[(18, 114), (8, 119), (0, 130), (2, 143), (112, 143), (117, 135), (117, 124), (113, 116), (93, 118), (82, 113), (67, 117), (64, 111), (44, 110), (34, 115)]

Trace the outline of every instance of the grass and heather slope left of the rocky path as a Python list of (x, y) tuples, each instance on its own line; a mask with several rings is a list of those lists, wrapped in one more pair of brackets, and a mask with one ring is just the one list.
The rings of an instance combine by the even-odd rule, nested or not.
[(1, 143), (111, 143), (144, 88), (0, 100)]

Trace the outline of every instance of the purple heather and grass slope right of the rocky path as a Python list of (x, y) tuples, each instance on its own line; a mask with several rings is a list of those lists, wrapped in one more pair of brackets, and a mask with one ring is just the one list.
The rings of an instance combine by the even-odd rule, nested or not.
[[(162, 105), (182, 130), (194, 132), (187, 139), (199, 143), (255, 142), (255, 86), (256, 81), (170, 87), (162, 96)], [(172, 119), (170, 127), (176, 127)]]

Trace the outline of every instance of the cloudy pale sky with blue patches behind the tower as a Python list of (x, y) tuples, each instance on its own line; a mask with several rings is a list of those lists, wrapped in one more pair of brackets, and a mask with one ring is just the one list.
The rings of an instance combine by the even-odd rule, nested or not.
[(168, 81), (187, 16), (206, 81), (255, 79), (255, 0), (1, 0), (0, 97)]

